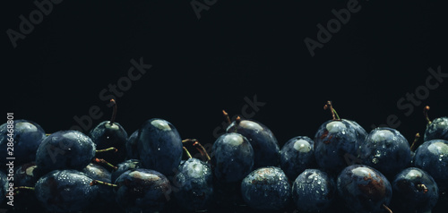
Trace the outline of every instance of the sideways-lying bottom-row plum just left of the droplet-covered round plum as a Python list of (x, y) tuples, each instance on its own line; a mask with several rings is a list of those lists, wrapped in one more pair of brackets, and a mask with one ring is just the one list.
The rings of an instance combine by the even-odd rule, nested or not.
[(129, 213), (161, 211), (170, 200), (171, 185), (155, 170), (128, 170), (115, 183), (116, 202)]

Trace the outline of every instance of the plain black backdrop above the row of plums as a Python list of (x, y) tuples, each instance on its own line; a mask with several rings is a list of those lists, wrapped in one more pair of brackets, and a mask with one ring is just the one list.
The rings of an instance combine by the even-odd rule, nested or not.
[[(208, 9), (199, 19), (192, 2)], [(428, 68), (448, 72), (444, 7), (433, 0), (359, 0), (358, 12), (310, 55), (304, 39), (317, 40), (317, 24), (327, 26), (335, 19), (332, 10), (348, 3), (62, 1), (13, 47), (7, 30), (20, 32), (20, 15), (29, 20), (38, 7), (7, 1), (1, 112), (56, 132), (99, 106), (104, 115), (92, 119), (99, 124), (111, 114), (100, 92), (121, 79), (128, 87), (116, 96), (116, 121), (129, 133), (159, 117), (183, 138), (212, 142), (213, 131), (221, 132), (221, 110), (249, 114), (247, 99), (256, 98), (251, 118), (270, 127), (282, 144), (297, 135), (314, 137), (331, 118), (323, 111), (330, 99), (342, 117), (367, 132), (396, 115), (401, 124), (392, 123), (411, 141), (425, 129), (423, 106), (432, 106), (433, 118), (446, 115), (447, 79), (432, 79), (438, 85), (425, 93)], [(140, 58), (151, 69), (126, 85), (130, 61)], [(416, 89), (421, 100), (397, 106)]]

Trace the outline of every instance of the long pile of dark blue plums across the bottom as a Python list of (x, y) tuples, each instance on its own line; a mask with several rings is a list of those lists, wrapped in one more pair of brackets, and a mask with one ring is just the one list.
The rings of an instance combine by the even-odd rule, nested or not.
[[(297, 136), (280, 149), (265, 125), (237, 117), (205, 149), (153, 118), (128, 135), (115, 122), (88, 135), (46, 134), (31, 121), (13, 126), (14, 164), (0, 171), (0, 209), (11, 212), (444, 212), (448, 190), (448, 118), (427, 118), (421, 145), (401, 132), (372, 132), (332, 119), (314, 140)], [(0, 162), (8, 164), (7, 124)], [(11, 136), (11, 134), (10, 134)], [(197, 149), (198, 157), (189, 149)], [(13, 199), (11, 194), (13, 193)], [(9, 200), (8, 200), (9, 199)], [(13, 200), (13, 207), (7, 205)]]

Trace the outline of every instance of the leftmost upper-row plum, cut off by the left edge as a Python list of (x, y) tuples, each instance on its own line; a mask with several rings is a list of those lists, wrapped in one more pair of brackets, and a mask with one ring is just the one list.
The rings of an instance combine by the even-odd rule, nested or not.
[[(8, 156), (8, 124), (0, 125), (0, 156)], [(36, 124), (27, 120), (16, 120), (13, 123), (13, 154), (15, 164), (24, 164), (36, 159), (36, 150), (40, 142), (45, 139), (45, 132)], [(0, 163), (4, 166), (7, 162), (5, 158), (0, 158)]]

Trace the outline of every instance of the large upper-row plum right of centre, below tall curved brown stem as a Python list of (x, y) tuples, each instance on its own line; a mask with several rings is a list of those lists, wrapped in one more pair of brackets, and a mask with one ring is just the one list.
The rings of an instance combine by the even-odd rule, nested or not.
[(314, 158), (317, 165), (332, 175), (358, 158), (358, 147), (365, 141), (365, 131), (349, 120), (323, 123), (314, 135)]

